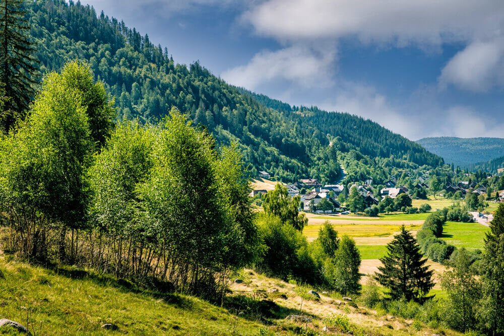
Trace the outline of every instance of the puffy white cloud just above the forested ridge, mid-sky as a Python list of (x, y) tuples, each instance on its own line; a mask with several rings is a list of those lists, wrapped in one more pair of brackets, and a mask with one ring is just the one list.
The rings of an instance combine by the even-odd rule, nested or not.
[(276, 51), (261, 51), (247, 64), (221, 74), (227, 82), (255, 90), (262, 84), (286, 80), (300, 87), (333, 84), (336, 47), (294, 45)]

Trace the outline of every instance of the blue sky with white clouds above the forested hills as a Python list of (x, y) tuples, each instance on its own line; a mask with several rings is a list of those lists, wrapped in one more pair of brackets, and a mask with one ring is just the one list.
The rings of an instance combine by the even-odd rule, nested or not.
[(501, 0), (81, 0), (176, 62), (418, 140), (504, 138)]

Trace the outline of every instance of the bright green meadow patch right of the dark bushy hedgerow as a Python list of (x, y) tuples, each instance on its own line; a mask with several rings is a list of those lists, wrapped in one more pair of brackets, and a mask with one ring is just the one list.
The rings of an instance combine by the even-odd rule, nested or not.
[(485, 232), (489, 229), (479, 223), (447, 222), (441, 238), (456, 247), (483, 249)]

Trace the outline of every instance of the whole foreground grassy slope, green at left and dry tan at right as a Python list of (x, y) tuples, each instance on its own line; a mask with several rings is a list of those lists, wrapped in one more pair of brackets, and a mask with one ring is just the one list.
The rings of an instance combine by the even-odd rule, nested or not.
[[(0, 270), (5, 276), (0, 280), (0, 316), (28, 325), (36, 334), (285, 335), (299, 334), (306, 327), (323, 333), (325, 318), (332, 314), (346, 315), (352, 329), (359, 334), (416, 333), (411, 320), (353, 307), (338, 295), (325, 294), (321, 300), (313, 300), (306, 294), (310, 288), (249, 270), (239, 276), (243, 284), (232, 284), (233, 294), (224, 305), (233, 307), (233, 303), (245, 302), (239, 310), (226, 310), (190, 296), (129, 290), (110, 278), (88, 275), (76, 279), (79, 272), (56, 274), (3, 257)], [(70, 277), (72, 274), (74, 277)], [(254, 307), (263, 300), (270, 308), (257, 314)], [(243, 314), (238, 314), (239, 311)], [(272, 325), (259, 322), (259, 315), (264, 314), (269, 315), (266, 318)], [(285, 317), (290, 314), (309, 316), (312, 322), (288, 322)], [(116, 324), (119, 330), (101, 329), (107, 322)], [(423, 325), (418, 334), (425, 332), (432, 334), (439, 330)], [(444, 332), (456, 334), (446, 329)], [(339, 334), (335, 330), (329, 333)]]

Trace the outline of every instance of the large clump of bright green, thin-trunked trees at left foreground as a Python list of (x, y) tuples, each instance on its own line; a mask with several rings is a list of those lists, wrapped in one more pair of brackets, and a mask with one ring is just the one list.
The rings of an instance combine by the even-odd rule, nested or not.
[(0, 141), (5, 251), (222, 295), (261, 250), (240, 155), (176, 109), (146, 125), (114, 114), (85, 65), (45, 78)]

